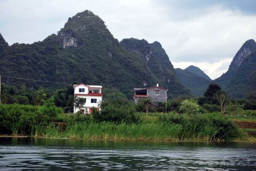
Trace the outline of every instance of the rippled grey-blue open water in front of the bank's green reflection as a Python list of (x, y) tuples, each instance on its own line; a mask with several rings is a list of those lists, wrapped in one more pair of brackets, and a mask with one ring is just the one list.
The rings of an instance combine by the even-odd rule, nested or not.
[(256, 170), (256, 150), (239, 148), (61, 148), (0, 145), (0, 170)]

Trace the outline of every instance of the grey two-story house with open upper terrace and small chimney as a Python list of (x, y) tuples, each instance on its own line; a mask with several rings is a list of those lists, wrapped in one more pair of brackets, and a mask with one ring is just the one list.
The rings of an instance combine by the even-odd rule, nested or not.
[(166, 103), (167, 101), (167, 88), (159, 87), (148, 87), (148, 88), (134, 88), (134, 102), (138, 103), (140, 99), (150, 98), (154, 106), (158, 106), (159, 103)]

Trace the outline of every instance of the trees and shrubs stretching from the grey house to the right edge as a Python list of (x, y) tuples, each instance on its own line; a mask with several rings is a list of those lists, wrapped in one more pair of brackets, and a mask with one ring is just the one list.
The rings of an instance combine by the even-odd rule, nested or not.
[(231, 99), (225, 91), (221, 89), (218, 84), (211, 83), (204, 95), (198, 98), (191, 98), (189, 96), (181, 96), (167, 103), (160, 103), (155, 107), (151, 105), (150, 100), (142, 99), (136, 105), (137, 111), (146, 112), (171, 112), (176, 113), (211, 113), (221, 112), (223, 115), (233, 117), (255, 117), (256, 118), (256, 103), (254, 103), (256, 96), (248, 96), (247, 100)]

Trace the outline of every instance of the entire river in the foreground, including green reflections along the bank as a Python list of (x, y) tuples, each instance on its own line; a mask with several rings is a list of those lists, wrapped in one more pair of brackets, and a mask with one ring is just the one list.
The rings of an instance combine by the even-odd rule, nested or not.
[(0, 138), (0, 170), (256, 170), (255, 143)]

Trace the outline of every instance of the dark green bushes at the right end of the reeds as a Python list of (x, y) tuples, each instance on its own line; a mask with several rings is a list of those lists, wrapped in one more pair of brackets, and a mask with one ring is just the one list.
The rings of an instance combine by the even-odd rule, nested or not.
[(207, 136), (210, 140), (228, 139), (243, 136), (238, 128), (227, 117), (220, 113), (177, 114), (169, 113), (159, 116), (161, 122), (178, 124), (183, 128), (186, 137)]

